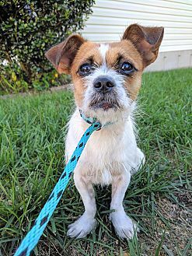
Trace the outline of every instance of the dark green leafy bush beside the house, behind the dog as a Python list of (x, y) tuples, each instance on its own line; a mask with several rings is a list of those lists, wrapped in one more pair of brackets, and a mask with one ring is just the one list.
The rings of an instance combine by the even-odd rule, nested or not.
[(82, 30), (93, 3), (94, 0), (0, 0), (2, 89), (5, 80), (11, 84), (24, 81), (32, 86), (39, 74), (51, 72), (45, 51), (68, 34)]

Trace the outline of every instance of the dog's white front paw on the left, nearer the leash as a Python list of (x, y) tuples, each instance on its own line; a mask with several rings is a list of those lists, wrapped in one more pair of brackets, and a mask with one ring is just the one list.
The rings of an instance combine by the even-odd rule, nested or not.
[(96, 227), (96, 219), (89, 219), (82, 215), (79, 219), (68, 226), (68, 237), (82, 238), (86, 237)]

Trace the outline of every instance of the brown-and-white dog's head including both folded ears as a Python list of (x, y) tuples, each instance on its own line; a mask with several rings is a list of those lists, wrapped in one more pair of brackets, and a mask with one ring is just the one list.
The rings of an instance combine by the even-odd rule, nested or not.
[(52, 47), (46, 57), (58, 72), (72, 75), (79, 109), (111, 119), (131, 109), (141, 74), (157, 58), (162, 37), (162, 27), (133, 24), (120, 42), (96, 44), (75, 34)]

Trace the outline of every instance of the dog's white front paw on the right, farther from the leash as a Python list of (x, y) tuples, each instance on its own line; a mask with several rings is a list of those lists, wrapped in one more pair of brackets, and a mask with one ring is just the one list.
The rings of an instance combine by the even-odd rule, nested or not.
[(110, 213), (110, 220), (112, 221), (114, 229), (120, 238), (131, 239), (134, 237), (134, 233), (138, 232), (137, 226), (125, 212)]

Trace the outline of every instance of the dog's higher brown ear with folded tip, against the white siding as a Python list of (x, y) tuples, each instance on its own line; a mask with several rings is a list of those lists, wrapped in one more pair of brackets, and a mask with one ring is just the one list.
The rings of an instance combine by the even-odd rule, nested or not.
[(145, 68), (157, 58), (163, 33), (164, 28), (162, 26), (150, 27), (132, 24), (125, 30), (122, 39), (131, 40), (131, 43), (140, 52)]

